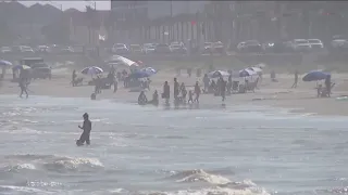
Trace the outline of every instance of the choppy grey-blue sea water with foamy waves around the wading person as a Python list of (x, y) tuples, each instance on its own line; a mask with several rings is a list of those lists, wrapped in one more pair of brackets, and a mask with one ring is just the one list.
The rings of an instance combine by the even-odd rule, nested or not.
[(209, 108), (1, 95), (0, 194), (348, 193), (347, 118)]

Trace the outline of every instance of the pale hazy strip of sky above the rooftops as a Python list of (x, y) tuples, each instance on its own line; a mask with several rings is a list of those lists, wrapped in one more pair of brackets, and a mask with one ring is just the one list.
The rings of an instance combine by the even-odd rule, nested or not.
[(98, 10), (110, 10), (110, 0), (105, 0), (105, 1), (18, 1), (25, 5), (32, 5), (35, 3), (41, 3), (41, 4), (51, 4), (55, 8), (60, 9), (60, 5), (63, 5), (63, 10), (67, 10), (71, 8), (77, 9), (79, 11), (85, 11), (86, 10), (86, 5), (91, 5), (94, 6), (94, 3), (97, 2), (97, 9)]

